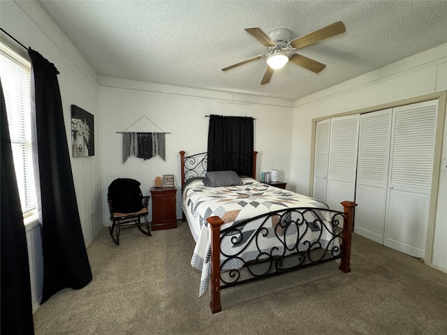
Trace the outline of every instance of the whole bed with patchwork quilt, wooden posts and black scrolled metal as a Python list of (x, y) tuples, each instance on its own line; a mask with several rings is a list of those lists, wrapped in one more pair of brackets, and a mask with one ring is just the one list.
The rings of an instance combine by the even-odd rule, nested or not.
[[(344, 211), (335, 211), (316, 199), (256, 181), (256, 151), (243, 158), (219, 153), (233, 163), (217, 172), (207, 172), (215, 153), (179, 154), (182, 211), (196, 241), (191, 265), (201, 271), (199, 296), (211, 283), (212, 313), (222, 309), (223, 288), (330, 260), (339, 262), (345, 273), (351, 271), (354, 202), (342, 202)], [(239, 176), (237, 167), (250, 160), (251, 176)]]

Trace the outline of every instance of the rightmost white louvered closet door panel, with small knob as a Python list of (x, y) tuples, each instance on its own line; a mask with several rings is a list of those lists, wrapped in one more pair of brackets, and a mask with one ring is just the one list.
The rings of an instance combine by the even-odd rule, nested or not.
[(427, 239), (437, 101), (393, 110), (384, 243), (423, 258)]

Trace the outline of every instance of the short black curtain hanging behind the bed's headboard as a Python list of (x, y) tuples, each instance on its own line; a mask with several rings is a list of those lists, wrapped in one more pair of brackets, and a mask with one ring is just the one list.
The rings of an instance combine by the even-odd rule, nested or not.
[(253, 142), (253, 118), (210, 115), (207, 170), (233, 170), (251, 177)]

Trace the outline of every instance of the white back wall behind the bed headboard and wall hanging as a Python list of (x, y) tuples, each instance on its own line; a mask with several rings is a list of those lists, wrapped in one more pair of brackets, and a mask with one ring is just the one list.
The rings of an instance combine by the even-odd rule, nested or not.
[[(207, 150), (209, 118), (205, 115), (254, 117), (254, 149), (259, 152), (257, 174), (279, 170), (279, 179), (288, 181), (292, 131), (290, 101), (254, 98), (182, 87), (149, 84), (100, 77), (101, 126), (103, 142), (103, 198), (111, 181), (119, 177), (141, 182), (143, 195), (150, 195), (154, 179), (162, 174), (175, 174), (180, 188), (179, 151), (198, 154)], [(161, 158), (143, 161), (130, 157), (122, 163), (122, 134), (140, 117), (146, 116), (166, 135), (166, 162)], [(128, 131), (161, 131), (143, 118)], [(180, 195), (177, 192), (177, 218), (181, 217)], [(104, 207), (107, 218), (108, 208)], [(105, 220), (105, 225), (110, 225)]]

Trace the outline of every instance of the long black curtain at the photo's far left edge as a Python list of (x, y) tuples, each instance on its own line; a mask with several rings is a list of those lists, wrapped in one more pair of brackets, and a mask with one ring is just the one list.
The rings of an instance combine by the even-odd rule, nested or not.
[(1, 89), (1, 334), (34, 334), (27, 237)]

